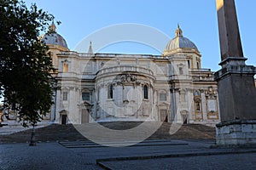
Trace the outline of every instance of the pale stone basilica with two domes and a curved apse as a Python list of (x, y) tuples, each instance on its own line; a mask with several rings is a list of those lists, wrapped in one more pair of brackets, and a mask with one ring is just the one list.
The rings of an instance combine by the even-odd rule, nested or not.
[(91, 43), (88, 53), (78, 53), (54, 24), (49, 29), (54, 33), (40, 38), (57, 83), (44, 122), (220, 122), (213, 72), (201, 67), (198, 48), (179, 26), (161, 55), (94, 53)]

